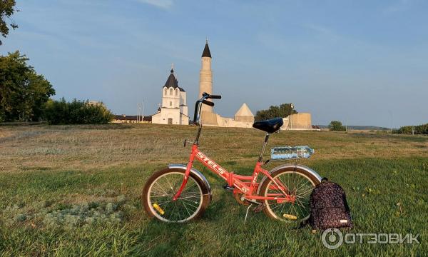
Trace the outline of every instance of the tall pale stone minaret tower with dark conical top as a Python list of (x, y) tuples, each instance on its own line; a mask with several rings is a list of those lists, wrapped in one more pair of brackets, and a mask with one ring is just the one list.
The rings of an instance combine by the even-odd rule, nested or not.
[[(211, 53), (208, 47), (208, 39), (205, 42), (205, 48), (202, 53), (202, 66), (199, 73), (199, 97), (203, 92), (213, 93), (213, 72), (211, 71)], [(213, 112), (213, 107), (203, 104), (203, 111)]]

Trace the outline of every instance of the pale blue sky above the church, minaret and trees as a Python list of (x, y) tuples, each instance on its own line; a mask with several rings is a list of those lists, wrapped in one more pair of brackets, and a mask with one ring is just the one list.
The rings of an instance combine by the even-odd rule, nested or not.
[(26, 0), (0, 54), (21, 51), (55, 98), (156, 112), (175, 67), (198, 94), (208, 36), (215, 110), (292, 102), (312, 124), (428, 121), (428, 1)]

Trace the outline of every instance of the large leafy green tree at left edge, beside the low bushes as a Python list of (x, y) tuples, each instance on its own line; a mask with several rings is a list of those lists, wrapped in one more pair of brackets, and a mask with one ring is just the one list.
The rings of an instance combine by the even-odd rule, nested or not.
[(0, 56), (0, 121), (39, 121), (44, 104), (55, 94), (26, 61), (19, 51)]

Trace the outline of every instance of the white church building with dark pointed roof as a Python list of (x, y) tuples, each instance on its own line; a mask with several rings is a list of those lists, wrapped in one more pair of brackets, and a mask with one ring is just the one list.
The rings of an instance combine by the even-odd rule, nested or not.
[(158, 113), (152, 116), (153, 124), (188, 125), (188, 106), (184, 89), (178, 86), (174, 70), (168, 77), (165, 86), (162, 87), (162, 105)]

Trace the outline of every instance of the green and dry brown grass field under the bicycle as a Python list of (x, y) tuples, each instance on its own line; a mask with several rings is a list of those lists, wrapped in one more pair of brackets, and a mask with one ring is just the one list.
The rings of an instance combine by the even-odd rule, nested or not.
[[(420, 233), (420, 244), (322, 245), (321, 233), (250, 213), (210, 181), (198, 221), (148, 219), (143, 185), (168, 163), (185, 163), (194, 126), (0, 126), (1, 256), (427, 256), (428, 137), (282, 131), (269, 146), (308, 145), (298, 161), (347, 192), (356, 233)], [(263, 142), (255, 129), (204, 128), (200, 149), (250, 174)], [(267, 169), (284, 162), (271, 162)]]

